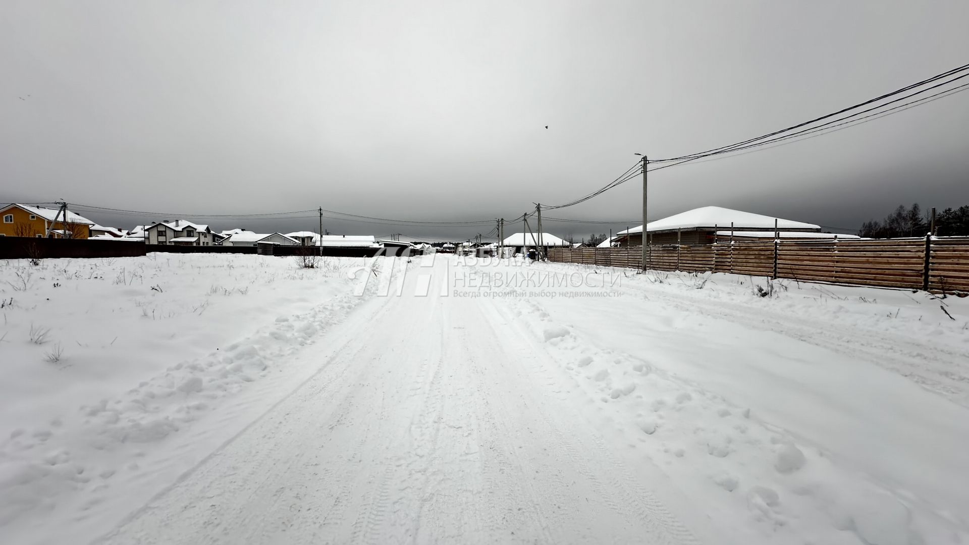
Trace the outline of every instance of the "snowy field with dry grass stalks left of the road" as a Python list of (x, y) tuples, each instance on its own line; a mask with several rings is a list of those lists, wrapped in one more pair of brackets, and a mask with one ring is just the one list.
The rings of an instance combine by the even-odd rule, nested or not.
[[(292, 383), (301, 372), (290, 355), (362, 301), (347, 278), (361, 263), (309, 270), (232, 254), (4, 262), (0, 535), (36, 533), (48, 517), (97, 524), (99, 503), (130, 507), (198, 462), (193, 443), (227, 438), (245, 410), (241, 393)], [(212, 412), (217, 419), (197, 425)], [(159, 446), (179, 433), (183, 452)]]

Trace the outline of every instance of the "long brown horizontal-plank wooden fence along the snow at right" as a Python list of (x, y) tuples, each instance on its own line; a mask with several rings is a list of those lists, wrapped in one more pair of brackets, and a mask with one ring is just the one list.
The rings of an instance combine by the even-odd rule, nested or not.
[[(641, 246), (549, 248), (548, 259), (641, 268)], [(733, 272), (814, 282), (969, 291), (969, 237), (888, 240), (766, 240), (652, 246), (649, 269)]]

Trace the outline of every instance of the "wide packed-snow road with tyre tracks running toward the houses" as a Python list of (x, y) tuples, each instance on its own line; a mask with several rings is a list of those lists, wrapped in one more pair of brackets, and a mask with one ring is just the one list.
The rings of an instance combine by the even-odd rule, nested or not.
[(663, 473), (610, 452), (507, 311), (417, 280), (103, 542), (699, 542), (703, 517), (684, 525)]

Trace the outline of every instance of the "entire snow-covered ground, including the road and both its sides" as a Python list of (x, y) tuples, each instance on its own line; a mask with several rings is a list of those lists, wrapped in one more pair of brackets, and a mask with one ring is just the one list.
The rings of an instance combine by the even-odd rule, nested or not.
[(969, 299), (363, 266), (0, 263), (0, 542), (969, 541)]

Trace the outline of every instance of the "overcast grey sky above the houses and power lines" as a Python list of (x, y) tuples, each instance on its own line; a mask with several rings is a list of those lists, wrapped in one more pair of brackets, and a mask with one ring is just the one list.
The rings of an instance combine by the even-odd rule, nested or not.
[[(511, 219), (604, 185), (634, 152), (730, 144), (969, 62), (964, 0), (0, 3), (0, 200), (172, 213)], [(965, 205), (967, 150), (969, 92), (656, 173), (650, 216), (718, 205), (857, 227), (899, 203)], [(640, 191), (554, 215), (635, 221)]]

